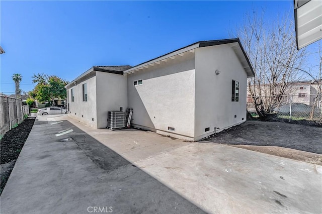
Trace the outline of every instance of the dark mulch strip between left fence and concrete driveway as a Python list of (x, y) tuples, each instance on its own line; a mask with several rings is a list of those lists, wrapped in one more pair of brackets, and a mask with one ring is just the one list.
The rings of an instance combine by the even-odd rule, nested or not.
[(1, 139), (1, 192), (5, 188), (15, 162), (34, 125), (35, 118), (28, 118), (18, 127), (8, 131)]

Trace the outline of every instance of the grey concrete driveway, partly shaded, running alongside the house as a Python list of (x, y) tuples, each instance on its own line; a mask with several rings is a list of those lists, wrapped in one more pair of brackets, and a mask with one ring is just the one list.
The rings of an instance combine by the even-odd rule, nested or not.
[(89, 213), (95, 206), (113, 213), (322, 212), (318, 165), (150, 132), (95, 130), (67, 116), (37, 119), (1, 213)]

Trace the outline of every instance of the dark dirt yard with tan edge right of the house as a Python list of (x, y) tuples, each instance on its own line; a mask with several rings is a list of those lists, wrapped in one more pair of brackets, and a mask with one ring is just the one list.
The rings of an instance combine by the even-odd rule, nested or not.
[(322, 165), (322, 128), (316, 126), (247, 121), (206, 140)]

